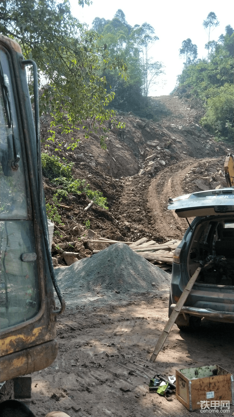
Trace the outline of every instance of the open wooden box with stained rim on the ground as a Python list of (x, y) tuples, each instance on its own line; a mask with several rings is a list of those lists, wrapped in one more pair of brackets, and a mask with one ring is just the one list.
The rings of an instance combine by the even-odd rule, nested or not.
[(219, 365), (176, 369), (175, 376), (176, 398), (190, 411), (200, 409), (200, 401), (234, 403), (232, 374)]

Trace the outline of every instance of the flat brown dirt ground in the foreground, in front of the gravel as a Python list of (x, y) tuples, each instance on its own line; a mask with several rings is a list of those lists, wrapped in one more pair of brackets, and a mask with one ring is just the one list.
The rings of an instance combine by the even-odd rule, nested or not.
[[(234, 372), (233, 325), (202, 323), (187, 334), (174, 325), (165, 347), (149, 362), (167, 321), (168, 291), (131, 297), (128, 303), (99, 307), (87, 302), (67, 309), (58, 319), (59, 354), (35, 372), (32, 400), (37, 416), (61, 410), (74, 416), (145, 417), (191, 415), (172, 395), (172, 402), (149, 392), (150, 378), (175, 369), (219, 364)], [(80, 408), (76, 412), (71, 407)], [(230, 415), (234, 406), (230, 407)], [(193, 415), (200, 415), (195, 411)]]

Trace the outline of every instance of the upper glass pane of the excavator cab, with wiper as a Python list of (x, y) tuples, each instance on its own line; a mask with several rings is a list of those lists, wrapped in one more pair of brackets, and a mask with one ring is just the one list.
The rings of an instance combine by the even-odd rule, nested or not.
[[(0, 84), (0, 219), (27, 219), (25, 178), (15, 100), (7, 56), (2, 50)], [(14, 167), (15, 156), (20, 157), (17, 169)]]

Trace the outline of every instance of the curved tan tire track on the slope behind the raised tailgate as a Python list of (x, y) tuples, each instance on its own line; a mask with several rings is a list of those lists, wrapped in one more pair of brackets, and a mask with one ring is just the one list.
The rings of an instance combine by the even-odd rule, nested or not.
[(168, 198), (174, 198), (185, 194), (182, 180), (185, 174), (194, 166), (180, 163), (171, 166), (159, 173), (153, 180), (148, 189), (148, 207), (155, 221), (156, 229), (162, 238), (181, 239), (187, 229), (187, 221), (180, 219), (174, 210), (168, 210)]

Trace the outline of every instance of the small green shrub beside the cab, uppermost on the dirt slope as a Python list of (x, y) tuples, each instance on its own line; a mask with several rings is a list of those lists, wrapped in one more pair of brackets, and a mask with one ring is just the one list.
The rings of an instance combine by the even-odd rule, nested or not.
[(63, 164), (60, 162), (58, 156), (50, 156), (47, 155), (47, 153), (42, 153), (42, 174), (49, 179), (56, 178), (58, 176), (71, 178), (71, 169), (73, 165), (74, 162)]

